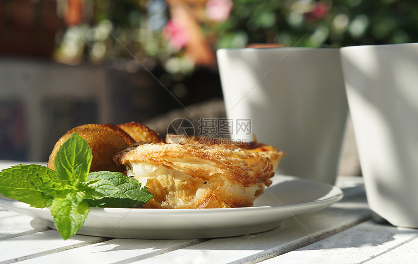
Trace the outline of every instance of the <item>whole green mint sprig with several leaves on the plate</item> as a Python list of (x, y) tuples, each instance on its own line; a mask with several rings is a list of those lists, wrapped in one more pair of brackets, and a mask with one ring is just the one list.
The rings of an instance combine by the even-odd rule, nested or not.
[(89, 173), (91, 161), (87, 141), (74, 133), (58, 150), (55, 171), (41, 165), (12, 166), (0, 172), (0, 193), (32, 207), (50, 207), (64, 240), (83, 227), (90, 207), (133, 208), (154, 197), (122, 173)]

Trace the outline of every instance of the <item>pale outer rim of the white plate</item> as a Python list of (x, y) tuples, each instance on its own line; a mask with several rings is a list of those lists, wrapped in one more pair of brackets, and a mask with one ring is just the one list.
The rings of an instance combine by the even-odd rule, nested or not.
[[(261, 231), (267, 231), (279, 227), (280, 223), (288, 218), (295, 217), (296, 215), (310, 213), (313, 211), (322, 210), (331, 206), (332, 204), (340, 201), (344, 193), (343, 191), (335, 186), (328, 183), (318, 182), (310, 179), (304, 179), (296, 176), (284, 176), (284, 175), (275, 175), (279, 176), (280, 181), (272, 184), (275, 186), (281, 182), (286, 182), (289, 180), (304, 181), (308, 184), (322, 184), (324, 187), (330, 188), (328, 193), (319, 197), (315, 200), (286, 204), (286, 205), (271, 205), (271, 206), (254, 206), (254, 207), (244, 207), (244, 208), (212, 208), (212, 209), (146, 209), (146, 208), (91, 208), (89, 214), (87, 215), (86, 222), (82, 229), (79, 229), (77, 234), (83, 235), (93, 235), (99, 237), (113, 237), (113, 238), (137, 238), (137, 239), (183, 239), (183, 238), (215, 238), (215, 237), (228, 237), (236, 235), (244, 235), (257, 233)], [(266, 195), (266, 193), (264, 193)], [(29, 204), (22, 203), (16, 200), (11, 200), (10, 198), (4, 199), (0, 197), (0, 208), (4, 208), (9, 211), (15, 211), (19, 214), (27, 215), (34, 219), (39, 219), (45, 225), (52, 229), (56, 229), (53, 224), (52, 215), (48, 208), (35, 208), (31, 207)], [(16, 210), (13, 210), (16, 209)], [(234, 225), (236, 216), (242, 216), (237, 221), (237, 225)], [(90, 216), (90, 222), (89, 221)], [(156, 234), (151, 233), (150, 230), (156, 229), (156, 223), (147, 224), (145, 226), (139, 225), (135, 226), (133, 223), (139, 216), (142, 216), (143, 219), (151, 220), (154, 217), (157, 219), (171, 219), (176, 221), (180, 219), (184, 222), (195, 223), (199, 221), (199, 227), (206, 225), (208, 229), (206, 232), (200, 232), (198, 235), (191, 235), (191, 233), (196, 232), (196, 226), (191, 225), (190, 229), (187, 227), (182, 227), (181, 230), (174, 230), (170, 234)], [(249, 219), (245, 219), (247, 216)], [(262, 219), (267, 216), (268, 219)], [(107, 217), (108, 220), (106, 223), (103, 223), (102, 228), (100, 225), (97, 225), (94, 222), (94, 219), (101, 217)], [(121, 218), (122, 217), (122, 218)], [(202, 218), (204, 217), (204, 218)], [(254, 220), (255, 217), (260, 219)], [(114, 221), (118, 221), (117, 218), (121, 218), (119, 222), (123, 222), (121, 227), (118, 230), (110, 229), (114, 233), (106, 233), (109, 225), (111, 226)], [(116, 220), (115, 220), (116, 219)], [(216, 219), (216, 223), (210, 222), (210, 219)], [(134, 220), (134, 221), (133, 221)], [(160, 220), (157, 220), (158, 222)], [(118, 222), (118, 223), (119, 223)], [(257, 223), (256, 223), (257, 222)], [(88, 223), (88, 224), (87, 224)], [(87, 225), (86, 225), (87, 224)], [(172, 227), (178, 227), (182, 223), (174, 222), (171, 224)], [(246, 225), (247, 228), (250, 227), (251, 230), (241, 230), (240, 225)], [(264, 225), (264, 226), (263, 226)], [(232, 226), (232, 227), (231, 227)], [(220, 231), (217, 230), (221, 227), (229, 227), (234, 230)], [(170, 229), (170, 227), (161, 227), (163, 229)], [(102, 231), (97, 231), (100, 229)], [(139, 232), (144, 232), (143, 234), (130, 234), (127, 230), (132, 230)], [(184, 229), (187, 229), (188, 232), (184, 233)], [(181, 233), (183, 232), (183, 233)], [(162, 232), (164, 233), (164, 232)]]

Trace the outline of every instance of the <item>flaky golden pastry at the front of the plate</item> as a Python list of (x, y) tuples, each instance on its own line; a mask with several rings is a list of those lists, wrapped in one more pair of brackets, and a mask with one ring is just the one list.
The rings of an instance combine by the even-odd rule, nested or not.
[(249, 207), (274, 176), (264, 155), (197, 144), (140, 142), (115, 161), (155, 195), (147, 208)]

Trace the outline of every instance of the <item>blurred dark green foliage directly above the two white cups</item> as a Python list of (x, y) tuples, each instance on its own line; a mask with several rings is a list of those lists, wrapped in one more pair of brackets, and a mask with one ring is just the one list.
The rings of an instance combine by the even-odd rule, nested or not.
[(234, 0), (216, 48), (247, 43), (320, 47), (415, 42), (414, 0)]

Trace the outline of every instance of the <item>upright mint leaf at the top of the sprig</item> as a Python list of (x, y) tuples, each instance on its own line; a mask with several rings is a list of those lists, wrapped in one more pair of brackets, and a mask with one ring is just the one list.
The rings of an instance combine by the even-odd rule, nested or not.
[(90, 171), (93, 155), (91, 148), (76, 133), (62, 144), (55, 156), (55, 171), (60, 179), (69, 183), (84, 182)]

